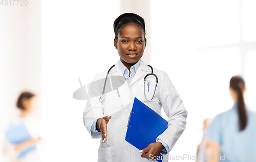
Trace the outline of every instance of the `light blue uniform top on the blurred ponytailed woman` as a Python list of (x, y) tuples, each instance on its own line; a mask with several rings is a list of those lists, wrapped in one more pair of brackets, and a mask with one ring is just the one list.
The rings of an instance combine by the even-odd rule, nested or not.
[(239, 131), (236, 102), (230, 110), (216, 115), (207, 128), (205, 138), (219, 143), (221, 156), (225, 155), (220, 161), (256, 161), (256, 112), (246, 110), (248, 122), (243, 131)]

